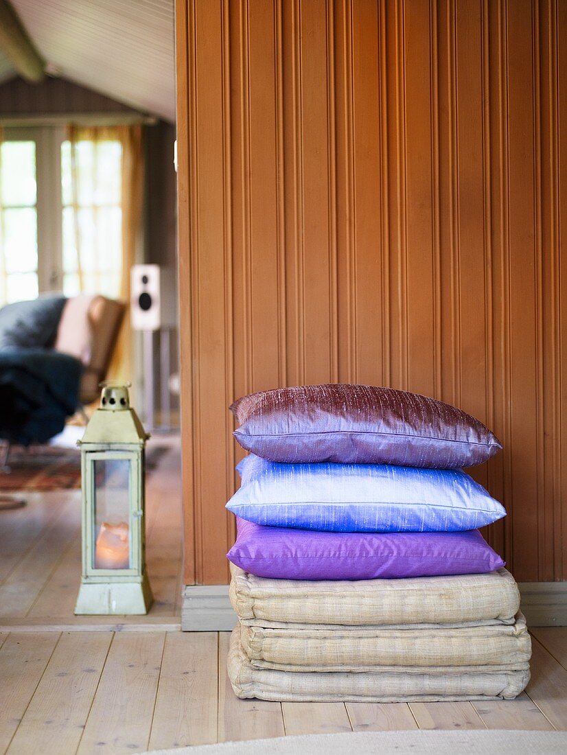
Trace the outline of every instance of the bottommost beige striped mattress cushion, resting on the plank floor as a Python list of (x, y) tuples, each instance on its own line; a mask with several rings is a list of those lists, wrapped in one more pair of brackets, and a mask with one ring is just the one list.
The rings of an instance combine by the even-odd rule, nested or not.
[(240, 627), (236, 627), (227, 662), (230, 683), (239, 698), (282, 702), (510, 700), (529, 681), (528, 669), (458, 667), (421, 672), (401, 666), (360, 673), (258, 669), (246, 658), (239, 633)]

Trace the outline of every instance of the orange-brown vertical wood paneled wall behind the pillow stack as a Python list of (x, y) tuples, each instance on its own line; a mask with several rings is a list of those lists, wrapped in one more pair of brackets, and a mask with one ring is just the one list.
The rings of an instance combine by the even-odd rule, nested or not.
[[(237, 396), (461, 406), (519, 581), (567, 576), (567, 2), (178, 0), (186, 583), (223, 583)], [(563, 233), (562, 233), (563, 230)]]

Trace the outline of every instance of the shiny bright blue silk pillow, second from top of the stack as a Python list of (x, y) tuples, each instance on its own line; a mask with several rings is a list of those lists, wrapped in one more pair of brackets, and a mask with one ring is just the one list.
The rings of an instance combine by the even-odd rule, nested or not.
[(462, 470), (279, 464), (248, 455), (226, 508), (262, 525), (328, 532), (459, 532), (506, 516)]

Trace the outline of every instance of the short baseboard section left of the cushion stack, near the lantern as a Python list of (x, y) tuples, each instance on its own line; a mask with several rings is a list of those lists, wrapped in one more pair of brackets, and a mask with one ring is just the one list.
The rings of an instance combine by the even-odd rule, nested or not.
[(230, 632), (235, 624), (236, 614), (230, 605), (227, 584), (183, 587), (183, 632)]

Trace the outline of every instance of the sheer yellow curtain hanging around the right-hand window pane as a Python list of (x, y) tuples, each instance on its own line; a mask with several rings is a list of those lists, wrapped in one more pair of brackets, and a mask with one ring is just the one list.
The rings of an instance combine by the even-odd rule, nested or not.
[[(140, 125), (94, 126), (84, 127), (70, 125), (68, 131), (71, 143), (71, 173), (73, 205), (79, 205), (79, 176), (77, 172), (77, 143), (80, 140), (118, 140), (122, 144), (122, 278), (120, 298), (125, 304), (130, 302), (130, 270), (140, 259), (138, 250), (142, 239), (142, 203), (143, 203), (143, 143)], [(84, 251), (75, 216), (75, 244), (77, 248), (77, 267), (79, 285), (83, 290)], [(112, 380), (132, 380), (133, 359), (130, 328), (129, 306), (119, 333), (116, 350), (109, 367), (108, 377)]]

